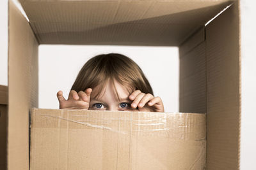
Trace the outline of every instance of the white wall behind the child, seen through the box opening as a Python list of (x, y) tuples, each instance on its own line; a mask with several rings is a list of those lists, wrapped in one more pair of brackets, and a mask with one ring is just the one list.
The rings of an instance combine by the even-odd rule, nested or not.
[(163, 100), (165, 111), (179, 111), (179, 49), (155, 46), (40, 45), (39, 107), (58, 108), (58, 90), (63, 90), (67, 99), (84, 63), (95, 55), (111, 52), (127, 55), (141, 67), (154, 95)]

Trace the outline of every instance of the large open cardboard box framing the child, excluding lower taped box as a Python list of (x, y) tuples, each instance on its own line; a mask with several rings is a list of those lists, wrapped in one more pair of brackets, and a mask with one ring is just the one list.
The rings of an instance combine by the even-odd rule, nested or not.
[(179, 46), (180, 112), (207, 113), (205, 167), (239, 169), (239, 1), (20, 3), (29, 22), (9, 3), (8, 169), (29, 169), (40, 44)]

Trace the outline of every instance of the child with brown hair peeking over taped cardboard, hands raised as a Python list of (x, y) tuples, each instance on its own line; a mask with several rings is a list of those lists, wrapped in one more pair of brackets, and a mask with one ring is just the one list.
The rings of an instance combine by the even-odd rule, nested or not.
[(68, 99), (59, 91), (60, 109), (164, 112), (160, 97), (140, 67), (125, 55), (108, 53), (88, 60), (77, 75)]

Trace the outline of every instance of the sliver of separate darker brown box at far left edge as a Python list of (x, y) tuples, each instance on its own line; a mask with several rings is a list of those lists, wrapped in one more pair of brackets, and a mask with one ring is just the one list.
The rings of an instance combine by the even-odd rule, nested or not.
[(0, 169), (6, 169), (8, 88), (0, 85)]

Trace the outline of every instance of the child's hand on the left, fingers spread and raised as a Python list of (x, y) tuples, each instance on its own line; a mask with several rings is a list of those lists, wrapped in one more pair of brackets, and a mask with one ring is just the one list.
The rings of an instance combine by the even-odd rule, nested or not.
[(92, 89), (88, 88), (86, 90), (77, 92), (71, 90), (66, 100), (63, 97), (63, 92), (60, 90), (57, 93), (57, 97), (60, 103), (60, 109), (85, 109), (88, 110), (90, 107), (90, 96), (92, 94)]

